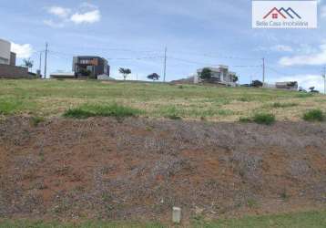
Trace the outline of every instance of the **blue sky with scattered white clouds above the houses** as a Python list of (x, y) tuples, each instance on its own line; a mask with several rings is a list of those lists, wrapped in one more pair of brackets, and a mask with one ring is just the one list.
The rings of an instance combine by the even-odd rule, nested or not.
[[(0, 0), (0, 38), (12, 42), (17, 64), (34, 60), (46, 42), (47, 72), (69, 72), (76, 55), (107, 58), (111, 76), (129, 67), (129, 79), (163, 75), (187, 78), (199, 67), (228, 65), (240, 83), (297, 80), (323, 89), (326, 66), (326, 1), (319, 1), (317, 29), (253, 29), (249, 0)], [(42, 62), (44, 67), (44, 59)]]

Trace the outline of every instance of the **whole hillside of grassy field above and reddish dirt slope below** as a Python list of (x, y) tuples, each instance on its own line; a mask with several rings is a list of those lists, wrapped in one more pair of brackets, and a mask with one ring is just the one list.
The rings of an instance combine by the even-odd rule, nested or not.
[[(173, 206), (184, 227), (247, 215), (275, 227), (285, 212), (303, 222), (277, 224), (323, 226), (326, 123), (302, 119), (325, 110), (322, 95), (69, 80), (0, 88), (0, 227), (22, 218), (170, 224)], [(260, 112), (277, 121), (239, 121)]]

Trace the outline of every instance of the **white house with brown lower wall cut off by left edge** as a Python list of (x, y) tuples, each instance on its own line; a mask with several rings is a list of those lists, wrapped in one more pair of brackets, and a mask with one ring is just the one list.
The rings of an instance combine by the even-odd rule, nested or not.
[(28, 68), (15, 66), (15, 53), (10, 50), (11, 43), (0, 39), (0, 78), (31, 78)]

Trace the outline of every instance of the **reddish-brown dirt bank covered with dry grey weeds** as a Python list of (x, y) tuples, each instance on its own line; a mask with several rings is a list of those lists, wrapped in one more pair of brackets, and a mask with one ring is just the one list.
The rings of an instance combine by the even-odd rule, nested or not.
[(0, 122), (0, 218), (168, 221), (326, 206), (326, 124)]

